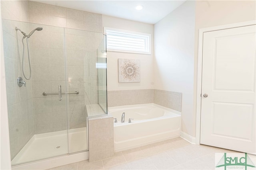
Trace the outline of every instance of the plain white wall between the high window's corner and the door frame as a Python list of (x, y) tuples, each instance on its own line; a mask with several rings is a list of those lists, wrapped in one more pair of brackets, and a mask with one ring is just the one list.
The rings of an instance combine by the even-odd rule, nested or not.
[(154, 89), (182, 93), (182, 131), (195, 136), (193, 116), (195, 2), (154, 25)]

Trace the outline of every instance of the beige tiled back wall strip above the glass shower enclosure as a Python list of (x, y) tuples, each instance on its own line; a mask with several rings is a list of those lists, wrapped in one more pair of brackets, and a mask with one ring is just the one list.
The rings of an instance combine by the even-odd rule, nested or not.
[(102, 15), (28, 1), (28, 21), (102, 33)]

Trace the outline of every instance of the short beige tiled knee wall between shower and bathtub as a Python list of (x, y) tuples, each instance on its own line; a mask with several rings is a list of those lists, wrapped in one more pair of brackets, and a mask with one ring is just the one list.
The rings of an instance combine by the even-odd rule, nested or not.
[(108, 115), (88, 118), (89, 162), (114, 156), (114, 119)]

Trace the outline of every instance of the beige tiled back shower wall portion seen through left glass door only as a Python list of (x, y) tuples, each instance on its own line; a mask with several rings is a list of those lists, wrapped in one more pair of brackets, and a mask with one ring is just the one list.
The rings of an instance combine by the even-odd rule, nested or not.
[(30, 23), (30, 29), (43, 27), (30, 37), (32, 96), (35, 134), (66, 129), (66, 97), (43, 96), (43, 92), (65, 91), (64, 29)]

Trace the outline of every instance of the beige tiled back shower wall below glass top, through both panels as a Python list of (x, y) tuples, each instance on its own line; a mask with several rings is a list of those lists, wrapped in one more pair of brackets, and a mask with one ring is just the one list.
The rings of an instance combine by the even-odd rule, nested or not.
[[(98, 103), (95, 63), (102, 34), (75, 29), (65, 29), (64, 34), (60, 27), (30, 25), (31, 28), (43, 27), (31, 36), (30, 43), (35, 134), (66, 129), (66, 101), (69, 128), (86, 127), (86, 104)], [(62, 101), (58, 95), (42, 95), (43, 92), (58, 93), (59, 85), (63, 92), (79, 91), (79, 95), (63, 95)]]

